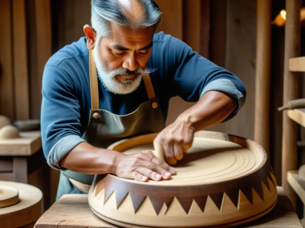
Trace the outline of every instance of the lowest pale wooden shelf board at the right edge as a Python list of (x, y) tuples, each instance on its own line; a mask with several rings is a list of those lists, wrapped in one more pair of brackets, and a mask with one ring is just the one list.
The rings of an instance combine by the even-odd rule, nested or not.
[(305, 179), (300, 177), (297, 170), (294, 170), (287, 172), (287, 182), (305, 204)]

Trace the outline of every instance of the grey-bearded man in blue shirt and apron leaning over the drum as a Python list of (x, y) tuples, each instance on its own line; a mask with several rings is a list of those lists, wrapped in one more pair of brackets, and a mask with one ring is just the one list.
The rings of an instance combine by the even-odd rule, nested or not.
[[(86, 37), (46, 63), (41, 133), (48, 164), (61, 171), (57, 199), (88, 192), (94, 174), (168, 180), (194, 132), (231, 119), (243, 106), (242, 82), (181, 40), (155, 33), (160, 16), (153, 0), (92, 0)], [(197, 103), (165, 127), (174, 96)], [(151, 151), (106, 149), (157, 132), (154, 143), (167, 162)]]

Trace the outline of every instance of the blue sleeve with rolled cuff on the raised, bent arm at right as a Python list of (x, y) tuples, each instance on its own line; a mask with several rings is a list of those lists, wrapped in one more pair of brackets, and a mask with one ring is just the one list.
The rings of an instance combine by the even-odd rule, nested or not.
[(246, 88), (233, 73), (219, 67), (193, 51), (183, 41), (172, 37), (168, 45), (168, 60), (171, 68), (171, 96), (197, 102), (209, 91), (223, 92), (238, 101), (238, 107), (224, 121), (233, 118), (246, 100)]

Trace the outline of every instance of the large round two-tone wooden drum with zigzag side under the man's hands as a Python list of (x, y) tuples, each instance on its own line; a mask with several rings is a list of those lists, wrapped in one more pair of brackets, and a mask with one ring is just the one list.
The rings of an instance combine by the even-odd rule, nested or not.
[[(121, 140), (108, 149), (153, 150), (156, 134)], [(201, 131), (171, 180), (139, 182), (96, 175), (92, 211), (123, 227), (236, 226), (267, 214), (277, 202), (277, 182), (262, 147), (252, 140)]]

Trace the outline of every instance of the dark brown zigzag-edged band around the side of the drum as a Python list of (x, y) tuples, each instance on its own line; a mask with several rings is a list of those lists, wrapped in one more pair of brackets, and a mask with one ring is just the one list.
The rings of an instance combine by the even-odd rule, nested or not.
[[(129, 193), (131, 197), (131, 201), (135, 210), (135, 213), (143, 203), (144, 199), (148, 196), (150, 201), (152, 202), (152, 206), (154, 207), (157, 215), (160, 213), (160, 210), (165, 203), (167, 208), (170, 206), (174, 197), (178, 199), (182, 208), (188, 214), (192, 201), (195, 200), (197, 205), (200, 207), (202, 211), (206, 206), (207, 197), (213, 200), (215, 205), (219, 210), (221, 210), (221, 204), (223, 200), (223, 195), (226, 193), (228, 197), (231, 199), (232, 203), (235, 207), (238, 207), (239, 201), (239, 190), (246, 196), (251, 204), (253, 204), (253, 195), (252, 188), (257, 192), (262, 200), (264, 200), (263, 195), (263, 187), (261, 181), (267, 186), (270, 192), (270, 186), (267, 181), (267, 178), (272, 182), (272, 184), (276, 187), (276, 183), (274, 183), (273, 178), (274, 175), (270, 165), (264, 165), (259, 171), (259, 173), (250, 174), (245, 178), (241, 178), (235, 181), (228, 181), (229, 183), (220, 183), (215, 184), (213, 189), (207, 188), (206, 186), (198, 186), (198, 187), (189, 187), (189, 186), (151, 186), (151, 185), (142, 185), (134, 182), (124, 182), (121, 179), (113, 178), (110, 175), (103, 178), (101, 181), (103, 182), (103, 186), (105, 187), (104, 193), (104, 204), (109, 199), (110, 195), (115, 192), (117, 208), (123, 202), (127, 194)], [(238, 182), (238, 183), (235, 183)], [(101, 183), (100, 183), (101, 184)], [(228, 186), (232, 186), (231, 189), (228, 189)], [(239, 186), (239, 187), (238, 187)], [(97, 186), (96, 186), (97, 187)], [(100, 189), (96, 189), (96, 195), (99, 194)], [(215, 193), (215, 190), (218, 192)]]

